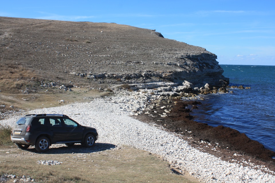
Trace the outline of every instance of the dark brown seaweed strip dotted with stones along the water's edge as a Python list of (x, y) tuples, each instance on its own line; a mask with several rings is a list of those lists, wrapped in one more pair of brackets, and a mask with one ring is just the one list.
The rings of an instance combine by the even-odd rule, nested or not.
[[(264, 148), (259, 142), (228, 127), (212, 127), (195, 122), (190, 112), (199, 104), (200, 102), (197, 101), (176, 99), (174, 103), (169, 104), (170, 108), (166, 108), (171, 111), (165, 118), (159, 115), (163, 113), (160, 109), (153, 109), (149, 111), (151, 115), (142, 114), (136, 118), (143, 122), (160, 125), (170, 132), (176, 132), (191, 146), (221, 157), (223, 160), (232, 162), (233, 159), (234, 162), (241, 162), (244, 165), (266, 166), (272, 171), (275, 170), (275, 159), (272, 159), (275, 152)], [(160, 106), (165, 105), (167, 106), (166, 102), (160, 104)]]

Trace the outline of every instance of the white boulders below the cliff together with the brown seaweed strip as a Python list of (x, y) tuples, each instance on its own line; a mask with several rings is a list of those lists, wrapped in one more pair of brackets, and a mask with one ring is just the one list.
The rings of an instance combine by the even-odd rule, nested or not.
[[(265, 164), (275, 171), (275, 152), (264, 148), (262, 144), (251, 140), (237, 130), (198, 123), (190, 115), (190, 112), (201, 104), (199, 101), (204, 100), (205, 94), (229, 93), (230, 88), (250, 89), (250, 87), (240, 85), (218, 89), (206, 84), (205, 87), (193, 88), (194, 86), (187, 81), (183, 86), (175, 86), (173, 83), (166, 83), (166, 86), (162, 84), (130, 84), (128, 89), (132, 88), (139, 92), (135, 94), (130, 92), (131, 94), (127, 95), (140, 101), (139, 103), (134, 100), (123, 100), (123, 98), (118, 98), (116, 101), (113, 99), (111, 102), (121, 103), (121, 110), (130, 111), (136, 119), (160, 125), (170, 132), (185, 136), (185, 140), (187, 139), (190, 145), (203, 148), (210, 154), (222, 156), (224, 160), (230, 159), (232, 154), (238, 154), (239, 158), (233, 156), (234, 159), (241, 160), (246, 156), (250, 162), (253, 161), (258, 165)], [(182, 100), (184, 98), (186, 100)]]

